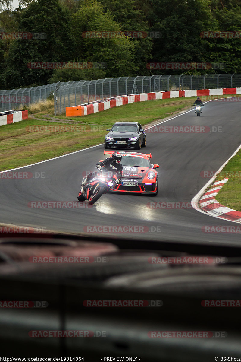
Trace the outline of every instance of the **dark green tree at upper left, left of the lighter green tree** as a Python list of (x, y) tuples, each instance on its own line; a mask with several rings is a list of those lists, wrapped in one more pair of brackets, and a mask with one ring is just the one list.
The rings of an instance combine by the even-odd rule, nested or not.
[(31, 69), (31, 62), (68, 62), (74, 41), (70, 32), (70, 14), (57, 0), (30, 3), (17, 15), (18, 32), (47, 34), (46, 38), (12, 40), (6, 58), (5, 85), (11, 88), (46, 84), (52, 69)]

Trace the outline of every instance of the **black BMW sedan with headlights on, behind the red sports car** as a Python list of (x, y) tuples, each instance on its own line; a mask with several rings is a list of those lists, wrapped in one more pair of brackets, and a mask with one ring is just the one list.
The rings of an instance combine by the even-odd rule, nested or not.
[(104, 147), (137, 148), (146, 147), (146, 134), (138, 122), (116, 122), (105, 136)]

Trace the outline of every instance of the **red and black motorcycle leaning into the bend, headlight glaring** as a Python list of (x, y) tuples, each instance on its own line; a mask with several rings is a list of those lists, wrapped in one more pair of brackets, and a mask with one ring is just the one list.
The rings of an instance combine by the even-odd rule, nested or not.
[[(81, 183), (81, 190), (77, 197), (79, 201), (88, 200), (90, 205), (93, 205), (103, 194), (106, 194), (115, 184), (118, 184), (117, 180), (113, 180), (116, 175), (113, 176), (112, 172), (106, 171), (100, 165), (96, 166), (96, 168), (101, 174), (98, 174), (98, 172), (96, 176), (93, 175), (93, 178), (85, 186), (82, 186)], [(85, 177), (83, 180), (85, 180)]]

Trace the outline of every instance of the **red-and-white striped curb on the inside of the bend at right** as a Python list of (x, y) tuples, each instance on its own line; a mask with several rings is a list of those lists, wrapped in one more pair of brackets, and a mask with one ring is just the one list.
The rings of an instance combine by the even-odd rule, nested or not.
[(231, 221), (241, 222), (241, 212), (230, 209), (227, 206), (221, 205), (216, 199), (216, 195), (221, 190), (223, 185), (228, 181), (228, 178), (224, 178), (221, 181), (216, 181), (213, 184), (213, 188), (205, 192), (199, 201), (199, 205), (203, 211), (208, 215), (218, 216), (222, 219), (228, 219)]

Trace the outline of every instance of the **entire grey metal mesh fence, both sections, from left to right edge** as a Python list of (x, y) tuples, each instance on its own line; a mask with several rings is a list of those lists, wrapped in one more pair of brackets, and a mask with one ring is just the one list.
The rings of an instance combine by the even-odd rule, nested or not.
[(0, 90), (0, 112), (55, 98), (55, 114), (65, 107), (81, 105), (125, 94), (164, 92), (166, 90), (239, 88), (241, 74), (180, 74), (119, 77), (91, 81), (57, 82), (25, 89)]

